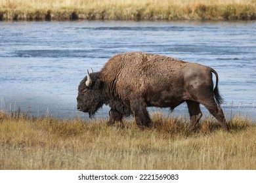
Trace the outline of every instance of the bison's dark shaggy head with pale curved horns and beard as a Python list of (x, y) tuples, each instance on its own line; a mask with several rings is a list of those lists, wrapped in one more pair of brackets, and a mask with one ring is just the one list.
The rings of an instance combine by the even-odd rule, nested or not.
[(77, 110), (88, 112), (91, 118), (104, 104), (103, 83), (100, 82), (100, 73), (89, 74), (89, 71), (87, 73), (78, 87)]

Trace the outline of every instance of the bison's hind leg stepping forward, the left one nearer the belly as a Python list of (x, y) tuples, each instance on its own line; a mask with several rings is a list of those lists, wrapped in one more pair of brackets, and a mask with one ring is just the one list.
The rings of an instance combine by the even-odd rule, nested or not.
[(200, 118), (202, 117), (202, 112), (200, 110), (200, 103), (195, 101), (186, 101), (188, 105), (188, 112), (190, 114), (190, 124), (188, 125), (188, 130), (193, 130), (198, 124)]

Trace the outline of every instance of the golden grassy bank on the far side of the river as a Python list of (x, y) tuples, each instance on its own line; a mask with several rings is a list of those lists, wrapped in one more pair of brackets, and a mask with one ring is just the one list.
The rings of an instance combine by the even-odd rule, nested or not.
[(2, 0), (0, 20), (255, 20), (256, 0)]

